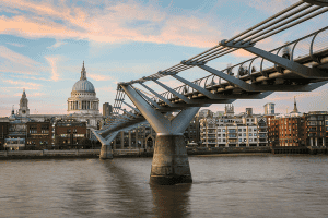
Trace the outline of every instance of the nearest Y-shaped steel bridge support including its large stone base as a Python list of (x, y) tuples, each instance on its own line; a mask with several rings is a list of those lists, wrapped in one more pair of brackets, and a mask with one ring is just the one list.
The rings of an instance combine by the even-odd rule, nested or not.
[(156, 131), (151, 184), (191, 183), (191, 172), (184, 131), (200, 107), (183, 109), (173, 120), (151, 107), (131, 86), (121, 85), (142, 116)]

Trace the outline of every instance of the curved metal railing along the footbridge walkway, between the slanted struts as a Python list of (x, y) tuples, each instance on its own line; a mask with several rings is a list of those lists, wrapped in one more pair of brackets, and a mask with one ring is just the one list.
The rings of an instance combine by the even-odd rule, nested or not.
[[(284, 51), (284, 49), (289, 49), (288, 53)], [(314, 62), (319, 62), (319, 53), (326, 50), (328, 50), (328, 27), (316, 31), (291, 43), (286, 43), (283, 46), (270, 50), (269, 52), (278, 55), (280, 57), (288, 55), (289, 59), (293, 61), (309, 57)], [(243, 80), (249, 78), (253, 74), (256, 73), (260, 73), (263, 76), (267, 76), (266, 71), (270, 70), (271, 68), (278, 69), (277, 64), (269, 62), (263, 58), (255, 57), (221, 71), (225, 74), (229, 74), (231, 72), (235, 77)], [(221, 84), (226, 85), (229, 82), (220, 78), (216, 75), (208, 75), (202, 78), (198, 78), (192, 83), (203, 88), (211, 89), (212, 87), (218, 85), (220, 86)], [(194, 95), (198, 93), (198, 90), (188, 85), (178, 86), (174, 88), (174, 90), (183, 95)], [(162, 93), (161, 95), (169, 100), (176, 98), (176, 96), (174, 96), (169, 92)], [(153, 100), (155, 100), (156, 102), (162, 102), (159, 98), (153, 98)]]

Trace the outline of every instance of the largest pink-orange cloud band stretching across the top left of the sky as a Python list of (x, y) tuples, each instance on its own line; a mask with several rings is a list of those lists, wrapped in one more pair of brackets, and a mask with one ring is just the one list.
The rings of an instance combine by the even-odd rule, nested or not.
[[(211, 47), (221, 32), (206, 19), (167, 15), (163, 9), (140, 3), (117, 3), (99, 9), (82, 9), (48, 2), (7, 1), (8, 10), (27, 12), (0, 17), (0, 33), (22, 37), (78, 38), (99, 43), (148, 41), (191, 47)], [(19, 13), (19, 12), (17, 12)], [(32, 13), (33, 15), (31, 15)], [(60, 22), (58, 22), (60, 21)], [(60, 46), (56, 43), (52, 47)]]

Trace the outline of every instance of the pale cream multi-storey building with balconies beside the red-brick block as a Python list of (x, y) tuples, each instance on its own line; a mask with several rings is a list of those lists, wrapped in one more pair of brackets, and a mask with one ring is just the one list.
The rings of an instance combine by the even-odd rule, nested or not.
[(226, 106), (225, 110), (229, 116), (208, 116), (200, 120), (200, 140), (204, 147), (268, 146), (266, 117), (253, 114), (249, 108), (238, 116), (234, 116), (233, 106)]

